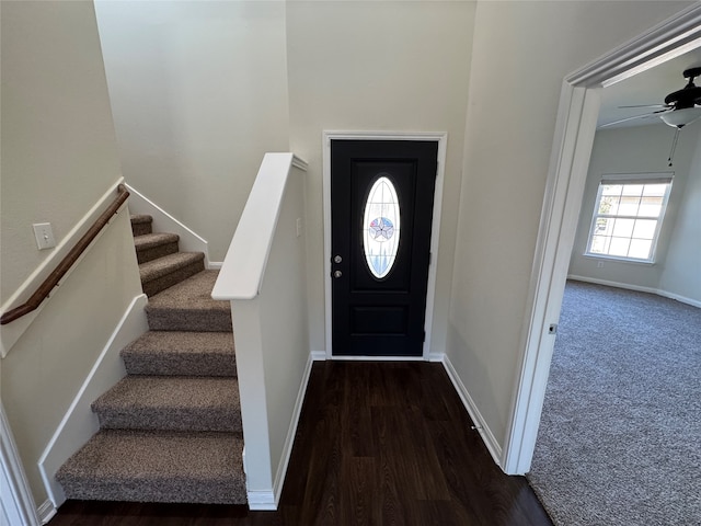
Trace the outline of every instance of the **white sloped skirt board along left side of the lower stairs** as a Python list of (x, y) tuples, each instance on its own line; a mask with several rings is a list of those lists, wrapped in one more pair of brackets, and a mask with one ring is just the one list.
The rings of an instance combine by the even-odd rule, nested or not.
[(145, 294), (131, 300), (38, 460), (46, 492), (55, 507), (66, 501), (56, 472), (97, 432), (97, 418), (90, 404), (126, 375), (119, 351), (148, 331), (143, 311), (147, 304)]

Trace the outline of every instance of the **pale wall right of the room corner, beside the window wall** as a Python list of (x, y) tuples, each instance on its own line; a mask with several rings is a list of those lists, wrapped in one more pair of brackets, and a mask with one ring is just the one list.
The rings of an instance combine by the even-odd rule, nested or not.
[(659, 288), (701, 304), (701, 135), (679, 204)]

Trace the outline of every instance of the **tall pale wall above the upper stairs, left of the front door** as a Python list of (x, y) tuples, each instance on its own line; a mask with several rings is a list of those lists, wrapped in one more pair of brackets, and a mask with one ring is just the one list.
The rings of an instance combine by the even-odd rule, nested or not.
[(284, 1), (95, 3), (124, 176), (222, 261), (288, 150)]

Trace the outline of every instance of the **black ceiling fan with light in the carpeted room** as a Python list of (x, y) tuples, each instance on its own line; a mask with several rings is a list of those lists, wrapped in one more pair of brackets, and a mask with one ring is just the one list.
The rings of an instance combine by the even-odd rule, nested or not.
[(687, 124), (701, 117), (701, 87), (697, 87), (693, 83), (696, 77), (701, 76), (701, 67), (690, 68), (683, 71), (683, 78), (689, 79), (687, 85), (681, 90), (669, 93), (665, 96), (664, 104), (643, 104), (634, 106), (619, 106), (619, 107), (660, 107), (656, 112), (644, 113), (642, 115), (634, 115), (632, 117), (621, 118), (612, 123), (607, 123), (600, 128), (606, 128), (617, 124), (625, 123), (636, 118), (645, 118), (651, 116), (658, 116), (662, 121), (677, 129), (685, 127)]

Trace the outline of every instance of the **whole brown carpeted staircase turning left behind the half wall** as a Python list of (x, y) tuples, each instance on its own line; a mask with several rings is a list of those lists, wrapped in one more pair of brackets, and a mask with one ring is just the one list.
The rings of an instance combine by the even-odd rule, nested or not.
[(231, 310), (217, 271), (131, 216), (149, 332), (127, 376), (92, 404), (100, 431), (56, 474), (67, 499), (243, 504), (243, 436)]

